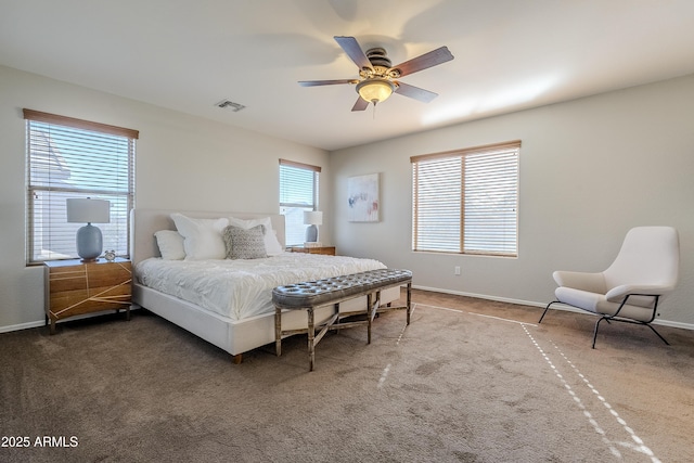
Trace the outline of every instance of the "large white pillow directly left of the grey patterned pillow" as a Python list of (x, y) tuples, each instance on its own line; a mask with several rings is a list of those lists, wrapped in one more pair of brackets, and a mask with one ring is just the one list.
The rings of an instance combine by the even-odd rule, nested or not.
[(229, 219), (193, 219), (182, 214), (171, 214), (178, 232), (183, 235), (185, 260), (223, 259), (227, 248), (221, 239), (221, 231), (229, 224)]

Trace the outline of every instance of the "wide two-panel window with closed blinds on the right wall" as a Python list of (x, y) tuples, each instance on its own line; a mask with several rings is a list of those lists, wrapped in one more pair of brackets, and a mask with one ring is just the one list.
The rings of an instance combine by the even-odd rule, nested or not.
[(517, 256), (520, 141), (413, 156), (412, 249)]

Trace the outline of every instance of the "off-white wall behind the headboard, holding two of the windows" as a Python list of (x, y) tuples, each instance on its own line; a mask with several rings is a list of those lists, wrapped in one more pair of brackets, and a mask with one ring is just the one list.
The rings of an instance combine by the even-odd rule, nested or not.
[[(277, 213), (280, 157), (330, 178), (322, 150), (0, 66), (0, 331), (43, 320), (42, 268), (25, 263), (24, 107), (139, 130), (137, 207)], [(331, 203), (330, 182), (320, 194)]]

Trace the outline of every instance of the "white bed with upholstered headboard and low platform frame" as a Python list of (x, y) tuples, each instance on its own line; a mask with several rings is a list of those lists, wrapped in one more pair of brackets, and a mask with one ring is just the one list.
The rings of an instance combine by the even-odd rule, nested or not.
[[(229, 270), (226, 266), (239, 263), (243, 266), (243, 273), (247, 273), (246, 283), (248, 281), (258, 280), (260, 284), (265, 285), (260, 288), (247, 285), (236, 286), (236, 296), (246, 296), (245, 293), (253, 293), (254, 298), (244, 299), (243, 308), (239, 308), (237, 304), (230, 303), (229, 308), (215, 307), (215, 304), (219, 305), (219, 300), (223, 300), (226, 296), (215, 295), (214, 297), (198, 297), (196, 298), (193, 293), (188, 292), (188, 295), (179, 292), (175, 294), (167, 294), (166, 281), (171, 280), (174, 272), (170, 268), (163, 270), (159, 283), (153, 283), (154, 276), (147, 276), (145, 269), (156, 269), (158, 265), (163, 265), (162, 253), (159, 245), (157, 244), (157, 237), (155, 233), (160, 234), (163, 231), (177, 231), (176, 223), (171, 218), (172, 215), (182, 215), (185, 218), (193, 220), (207, 220), (220, 218), (235, 218), (236, 220), (255, 220), (265, 222), (266, 227), (271, 227), (277, 242), (281, 249), (279, 253), (273, 253), (272, 256), (264, 259), (250, 259), (240, 260), (233, 262), (232, 259), (226, 259), (227, 261), (210, 260), (210, 268), (217, 268), (223, 273), (234, 272), (236, 270)], [(175, 216), (176, 217), (176, 216)], [(269, 219), (268, 219), (269, 218)], [(232, 219), (233, 220), (233, 219)], [(255, 222), (254, 222), (255, 223)], [(180, 229), (180, 222), (179, 222)], [(180, 230), (179, 230), (180, 231)], [(170, 232), (169, 232), (170, 233)], [(130, 254), (133, 268), (133, 283), (132, 283), (132, 303), (136, 307), (142, 307), (149, 311), (156, 313), (157, 316), (188, 330), (194, 335), (211, 343), (220, 349), (229, 352), (234, 363), (240, 363), (242, 355), (249, 350), (256, 349), (260, 346), (274, 343), (274, 307), (272, 305), (272, 285), (279, 286), (283, 284), (297, 283), (305, 281), (306, 275), (316, 275), (318, 268), (324, 266), (326, 273), (321, 273), (317, 278), (325, 278), (335, 275), (336, 271), (340, 272), (358, 272), (363, 270), (371, 270), (377, 268), (385, 268), (382, 262), (373, 259), (352, 259), (357, 262), (357, 270), (349, 270), (348, 260), (351, 258), (338, 257), (338, 256), (323, 256), (314, 254), (304, 253), (285, 253), (284, 248), (284, 216), (272, 214), (249, 214), (249, 213), (214, 213), (214, 211), (190, 211), (190, 210), (166, 210), (166, 209), (133, 209), (131, 211), (131, 242)], [(168, 253), (168, 250), (166, 250)], [(203, 256), (204, 257), (204, 256)], [(205, 266), (207, 259), (194, 260), (190, 267), (202, 268)], [(254, 262), (255, 261), (255, 262)], [(174, 267), (178, 267), (178, 270), (189, 267), (188, 260), (176, 260), (172, 263)], [(296, 273), (282, 274), (281, 270), (275, 273), (272, 270), (272, 265), (281, 267), (296, 267), (305, 266), (308, 270), (299, 271), (299, 278)], [(335, 262), (340, 262), (340, 266), (335, 266)], [(260, 270), (255, 270), (254, 265), (257, 263), (261, 267)], [(320, 263), (320, 265), (319, 265)], [(343, 266), (344, 263), (344, 266)], [(308, 267), (307, 267), (308, 266)], [(359, 267), (361, 266), (361, 267)], [(167, 269), (165, 267), (164, 269)], [(159, 269), (160, 270), (160, 269)], [(178, 271), (176, 270), (176, 271)], [(158, 270), (154, 270), (156, 273)], [(192, 271), (192, 270), (191, 270)], [(215, 276), (215, 272), (205, 269)], [(321, 272), (323, 270), (320, 270)], [(331, 273), (332, 272), (332, 273)], [(288, 280), (287, 280), (288, 279)], [(294, 280), (292, 280), (294, 279)], [(297, 280), (298, 279), (298, 280)], [(219, 281), (207, 281), (196, 284), (204, 284), (206, 288), (215, 288), (220, 285)], [(176, 286), (176, 285), (172, 285)], [(239, 290), (241, 288), (241, 290)], [(207, 290), (206, 290), (207, 291)], [(230, 290), (231, 291), (231, 290)], [(233, 293), (233, 291), (232, 291)], [(243, 295), (241, 293), (244, 293)], [(200, 296), (200, 294), (198, 294)], [(384, 291), (381, 294), (382, 304), (388, 304), (397, 300), (400, 297), (399, 287), (394, 287)], [(216, 299), (209, 301), (207, 299)], [(237, 297), (236, 297), (237, 299)], [(347, 300), (340, 304), (339, 310), (343, 313), (363, 312), (367, 307), (365, 297)], [(318, 321), (327, 320), (332, 314), (332, 307), (323, 307), (316, 310), (316, 319)], [(296, 329), (301, 330), (306, 327), (306, 317), (301, 317), (303, 313), (297, 311), (290, 311), (283, 316), (283, 325), (287, 330)]]

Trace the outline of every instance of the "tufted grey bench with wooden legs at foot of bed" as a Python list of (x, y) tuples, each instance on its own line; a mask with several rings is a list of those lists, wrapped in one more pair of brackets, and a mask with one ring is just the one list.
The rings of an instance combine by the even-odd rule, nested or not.
[[(380, 307), (381, 291), (407, 285), (407, 303), (404, 306)], [(370, 270), (361, 273), (352, 273), (342, 276), (333, 276), (285, 286), (272, 290), (272, 304), (274, 304), (274, 343), (278, 356), (282, 355), (282, 336), (293, 334), (308, 334), (308, 362), (309, 371), (313, 371), (316, 358), (316, 345), (323, 338), (329, 330), (343, 330), (346, 327), (367, 325), (368, 340), (371, 344), (371, 324), (378, 312), (386, 310), (406, 309), (407, 324), (410, 324), (412, 312), (412, 272), (410, 270), (382, 269)], [(340, 322), (344, 317), (339, 313), (339, 303), (359, 296), (367, 296), (365, 320)], [(313, 311), (321, 306), (333, 305), (333, 314), (321, 324), (316, 333)], [(308, 324), (301, 330), (282, 330), (282, 312), (284, 310), (306, 310)]]

